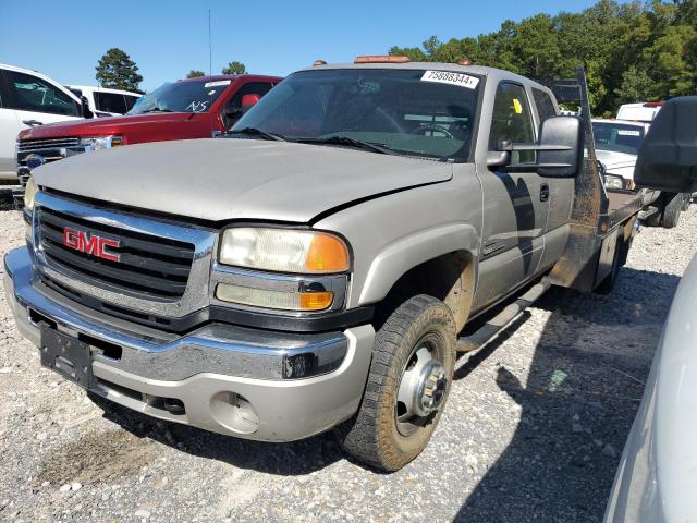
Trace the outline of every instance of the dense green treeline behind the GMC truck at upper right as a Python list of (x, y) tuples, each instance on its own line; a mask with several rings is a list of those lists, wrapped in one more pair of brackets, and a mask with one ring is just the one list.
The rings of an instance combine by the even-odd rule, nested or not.
[(586, 69), (595, 114), (620, 104), (697, 90), (697, 0), (599, 0), (578, 12), (504, 21), (498, 31), (420, 47), (392, 47), (412, 60), (505, 69), (534, 78), (572, 77)]

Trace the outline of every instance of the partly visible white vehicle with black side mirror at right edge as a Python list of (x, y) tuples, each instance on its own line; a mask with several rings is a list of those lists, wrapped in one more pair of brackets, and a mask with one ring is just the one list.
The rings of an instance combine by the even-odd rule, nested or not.
[[(637, 183), (675, 194), (695, 190), (695, 122), (697, 96), (665, 104), (641, 146)], [(606, 523), (697, 521), (696, 301), (697, 256), (683, 275), (668, 314), (615, 474)]]

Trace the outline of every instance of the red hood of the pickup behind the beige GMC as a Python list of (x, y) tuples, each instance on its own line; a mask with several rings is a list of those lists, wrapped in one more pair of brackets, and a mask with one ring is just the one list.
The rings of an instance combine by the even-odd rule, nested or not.
[(188, 112), (159, 112), (152, 114), (133, 114), (124, 117), (95, 118), (71, 122), (49, 123), (25, 129), (20, 132), (19, 139), (45, 139), (56, 137), (108, 136), (127, 134), (129, 129), (154, 123), (170, 124), (184, 122), (192, 118)]

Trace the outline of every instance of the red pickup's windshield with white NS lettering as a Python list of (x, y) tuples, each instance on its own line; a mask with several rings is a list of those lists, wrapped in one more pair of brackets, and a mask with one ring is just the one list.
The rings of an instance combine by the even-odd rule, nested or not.
[(230, 80), (167, 83), (138, 98), (127, 114), (145, 112), (206, 112), (230, 85)]

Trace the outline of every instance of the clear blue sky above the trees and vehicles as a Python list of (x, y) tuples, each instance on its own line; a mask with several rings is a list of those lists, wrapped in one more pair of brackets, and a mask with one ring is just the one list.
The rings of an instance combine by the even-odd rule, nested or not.
[[(95, 66), (111, 47), (131, 56), (151, 90), (189, 70), (243, 62), (248, 72), (286, 75), (316, 59), (351, 62), (392, 46), (413, 47), (498, 29), (504, 20), (580, 11), (590, 0), (48, 2), (0, 0), (0, 63), (62, 84), (97, 85)], [(60, 8), (59, 8), (60, 5)], [(101, 9), (100, 9), (101, 8)]]

